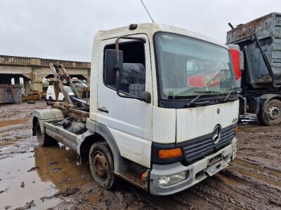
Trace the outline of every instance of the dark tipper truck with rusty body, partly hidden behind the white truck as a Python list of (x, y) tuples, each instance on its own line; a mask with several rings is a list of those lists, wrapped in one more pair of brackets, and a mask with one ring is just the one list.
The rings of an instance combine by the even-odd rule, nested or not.
[(244, 53), (240, 114), (256, 113), (265, 125), (280, 124), (281, 13), (232, 27), (226, 41)]

